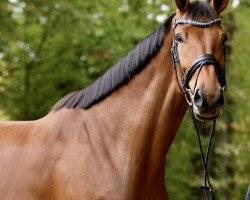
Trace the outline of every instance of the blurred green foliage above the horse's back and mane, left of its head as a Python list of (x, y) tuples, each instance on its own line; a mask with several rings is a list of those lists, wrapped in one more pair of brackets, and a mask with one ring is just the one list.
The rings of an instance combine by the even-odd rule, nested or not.
[(15, 119), (43, 116), (56, 100), (89, 84), (154, 30), (156, 21), (147, 23), (145, 18), (152, 18), (160, 5), (5, 1), (6, 26), (0, 33), (2, 106)]

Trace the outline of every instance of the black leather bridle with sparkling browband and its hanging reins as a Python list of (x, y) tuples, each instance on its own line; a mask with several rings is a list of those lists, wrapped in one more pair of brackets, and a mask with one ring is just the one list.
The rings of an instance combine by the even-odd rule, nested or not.
[[(215, 200), (215, 194), (213, 191), (212, 184), (210, 182), (209, 173), (208, 173), (207, 168), (208, 168), (208, 158), (209, 158), (211, 143), (212, 143), (214, 130), (215, 130), (215, 126), (216, 126), (216, 120), (214, 120), (212, 122), (213, 124), (212, 124), (212, 128), (210, 130), (209, 141), (207, 144), (206, 153), (204, 154), (202, 143), (201, 143), (201, 136), (200, 136), (201, 133), (200, 133), (200, 130), (198, 127), (198, 123), (200, 123), (200, 121), (198, 122), (198, 120), (195, 117), (194, 111), (193, 111), (192, 99), (194, 97), (194, 94), (189, 87), (189, 81), (192, 78), (193, 74), (196, 72), (196, 70), (198, 70), (198, 75), (196, 77), (195, 86), (193, 89), (193, 91), (195, 91), (198, 76), (200, 74), (202, 67), (205, 66), (206, 64), (211, 64), (215, 68), (215, 72), (216, 72), (218, 81), (219, 81), (222, 89), (225, 90), (226, 89), (225, 71), (222, 70), (220, 64), (218, 63), (218, 61), (216, 60), (216, 58), (213, 54), (204, 54), (204, 55), (199, 56), (194, 61), (194, 63), (190, 66), (189, 70), (186, 73), (184, 71), (183, 67), (181, 66), (181, 63), (180, 63), (180, 59), (179, 59), (179, 55), (178, 55), (178, 42), (179, 41), (178, 41), (178, 38), (176, 37), (175, 29), (178, 25), (185, 25), (185, 24), (190, 24), (190, 25), (198, 26), (198, 27), (209, 27), (209, 26), (212, 26), (214, 24), (220, 24), (220, 23), (221, 23), (220, 18), (213, 19), (213, 20), (208, 21), (208, 22), (200, 22), (200, 21), (195, 21), (195, 20), (190, 20), (190, 19), (175, 19), (174, 28), (173, 28), (174, 39), (173, 39), (173, 46), (171, 48), (173, 68), (175, 70), (177, 82), (179, 84), (179, 87), (181, 88), (181, 90), (185, 94), (185, 98), (186, 98), (186, 101), (190, 107), (192, 120), (193, 120), (194, 127), (195, 127), (195, 130), (197, 133), (197, 140), (198, 140), (198, 144), (199, 144), (201, 162), (202, 162), (203, 169), (204, 169), (204, 186), (200, 186), (199, 189), (204, 190), (207, 200), (210, 200), (210, 199)], [(178, 78), (177, 70), (179, 70), (179, 73), (182, 74), (180, 81)], [(201, 123), (202, 123), (202, 132), (204, 132), (204, 130), (205, 130), (204, 123), (205, 122), (201, 122)]]

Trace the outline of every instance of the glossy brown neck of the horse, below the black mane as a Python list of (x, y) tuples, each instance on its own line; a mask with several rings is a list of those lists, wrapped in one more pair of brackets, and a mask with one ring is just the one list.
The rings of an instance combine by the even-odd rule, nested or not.
[(164, 179), (165, 156), (186, 111), (172, 68), (171, 37), (165, 37), (159, 53), (139, 74), (89, 109), (101, 124), (103, 137), (118, 143), (115, 157), (126, 158), (125, 164), (120, 163), (130, 177), (145, 178), (148, 173), (152, 181), (160, 171)]

